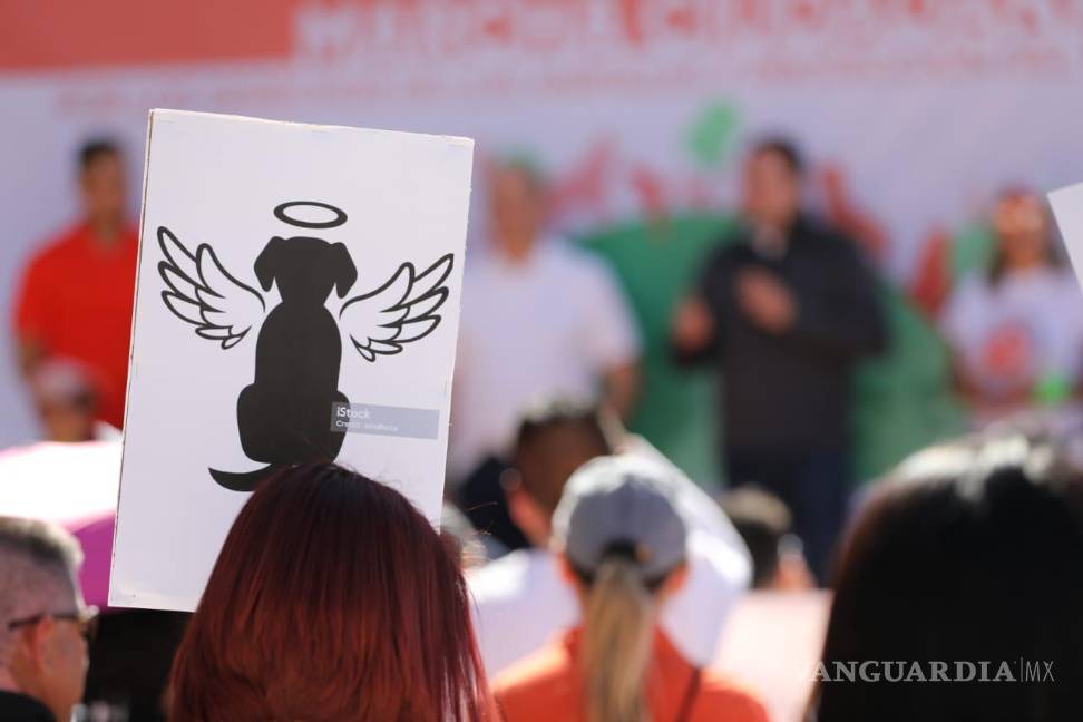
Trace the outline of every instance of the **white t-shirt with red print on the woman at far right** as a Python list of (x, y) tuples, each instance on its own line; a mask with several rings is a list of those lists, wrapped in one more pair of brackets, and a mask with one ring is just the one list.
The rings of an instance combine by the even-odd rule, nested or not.
[(966, 277), (941, 319), (967, 375), (991, 396), (1083, 370), (1083, 293), (1072, 273), (1041, 267), (1008, 272), (997, 284)]

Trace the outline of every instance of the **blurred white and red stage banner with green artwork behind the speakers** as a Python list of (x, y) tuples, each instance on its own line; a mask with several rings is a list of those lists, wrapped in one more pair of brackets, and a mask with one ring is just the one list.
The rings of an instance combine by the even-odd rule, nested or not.
[[(0, 0), (0, 313), (74, 219), (86, 136), (125, 145), (135, 217), (152, 107), (472, 136), (481, 164), (543, 165), (556, 228), (615, 264), (651, 344), (635, 426), (708, 479), (706, 381), (673, 374), (661, 339), (728, 224), (742, 144), (782, 131), (817, 203), (872, 228), (887, 279), (898, 335), (861, 379), (868, 477), (958, 425), (907, 300), (930, 243), (955, 272), (999, 189), (1083, 179), (1081, 87), (1076, 0)], [(6, 333), (0, 446), (36, 432), (12, 358)]]

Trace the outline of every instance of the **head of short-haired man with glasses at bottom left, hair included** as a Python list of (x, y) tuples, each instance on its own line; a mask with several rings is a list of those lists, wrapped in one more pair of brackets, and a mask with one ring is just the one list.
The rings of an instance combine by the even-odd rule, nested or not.
[(79, 589), (79, 543), (0, 517), (0, 720), (68, 722), (82, 696), (97, 609)]

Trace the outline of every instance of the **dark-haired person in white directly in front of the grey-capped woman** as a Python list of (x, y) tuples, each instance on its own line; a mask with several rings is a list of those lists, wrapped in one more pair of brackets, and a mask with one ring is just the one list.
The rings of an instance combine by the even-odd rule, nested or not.
[(748, 587), (748, 549), (719, 506), (691, 479), (638, 437), (627, 435), (612, 411), (553, 400), (524, 417), (504, 475), (511, 518), (530, 539), (467, 575), (475, 599), (486, 671), (495, 675), (538, 650), (579, 618), (572, 587), (560, 580), (552, 549), (553, 514), (565, 485), (580, 466), (601, 456), (635, 457), (666, 470), (660, 484), (676, 499), (689, 529), (686, 580), (662, 615), (681, 654), (695, 664), (714, 658), (729, 613)]

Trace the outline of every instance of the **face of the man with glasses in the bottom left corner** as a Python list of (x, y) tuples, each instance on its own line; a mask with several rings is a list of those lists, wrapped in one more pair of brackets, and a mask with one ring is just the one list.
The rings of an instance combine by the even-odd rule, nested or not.
[[(67, 597), (67, 598), (64, 598)], [(21, 626), (10, 667), (19, 689), (45, 704), (57, 720), (68, 720), (82, 699), (87, 675), (87, 641), (78, 619), (57, 618), (82, 608), (69, 592), (58, 595), (42, 618)]]

